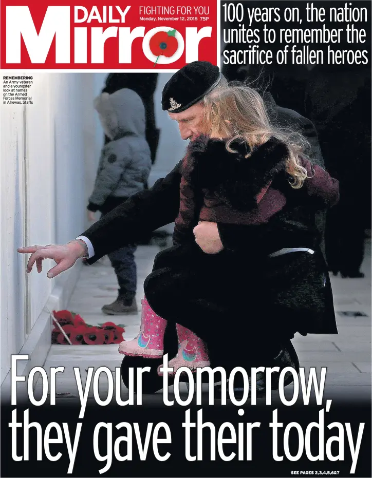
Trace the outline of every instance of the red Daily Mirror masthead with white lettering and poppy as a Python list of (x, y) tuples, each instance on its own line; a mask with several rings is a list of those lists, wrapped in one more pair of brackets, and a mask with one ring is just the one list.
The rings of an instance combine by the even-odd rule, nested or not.
[(1, 3), (2, 69), (176, 71), (217, 63), (217, 2)]

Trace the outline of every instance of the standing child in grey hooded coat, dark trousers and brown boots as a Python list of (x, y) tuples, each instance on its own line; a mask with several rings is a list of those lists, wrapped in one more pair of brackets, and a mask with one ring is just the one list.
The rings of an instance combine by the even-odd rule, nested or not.
[[(150, 148), (145, 140), (145, 110), (137, 93), (123, 88), (102, 93), (95, 100), (105, 134), (111, 139), (101, 151), (88, 211), (108, 214), (130, 196), (143, 190), (151, 168)], [(109, 315), (137, 312), (135, 244), (108, 254), (119, 283), (115, 302), (104, 305)]]

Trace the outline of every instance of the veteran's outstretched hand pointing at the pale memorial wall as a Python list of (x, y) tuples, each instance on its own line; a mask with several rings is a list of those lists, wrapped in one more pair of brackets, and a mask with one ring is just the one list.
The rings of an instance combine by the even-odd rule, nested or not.
[(36, 263), (36, 270), (39, 273), (42, 272), (43, 259), (53, 259), (57, 265), (48, 271), (47, 277), (49, 279), (70, 269), (80, 257), (84, 257), (87, 253), (84, 241), (79, 239), (65, 245), (49, 244), (20, 247), (17, 251), (20, 254), (31, 254), (26, 269), (28, 273), (32, 271), (34, 263)]

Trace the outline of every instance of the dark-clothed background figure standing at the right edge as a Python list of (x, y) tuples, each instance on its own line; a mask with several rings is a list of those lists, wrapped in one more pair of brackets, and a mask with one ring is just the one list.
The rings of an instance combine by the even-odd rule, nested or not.
[(365, 230), (371, 205), (370, 71), (314, 71), (307, 107), (318, 126), (329, 173), (340, 183), (340, 202), (327, 215), (328, 268), (362, 278)]

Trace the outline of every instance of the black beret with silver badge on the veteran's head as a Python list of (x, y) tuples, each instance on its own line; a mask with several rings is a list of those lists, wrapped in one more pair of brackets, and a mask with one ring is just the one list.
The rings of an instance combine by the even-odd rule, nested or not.
[(163, 111), (180, 113), (195, 105), (220, 81), (218, 66), (209, 62), (192, 62), (175, 73), (163, 88)]

